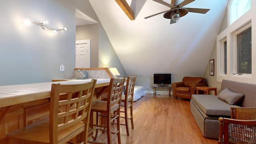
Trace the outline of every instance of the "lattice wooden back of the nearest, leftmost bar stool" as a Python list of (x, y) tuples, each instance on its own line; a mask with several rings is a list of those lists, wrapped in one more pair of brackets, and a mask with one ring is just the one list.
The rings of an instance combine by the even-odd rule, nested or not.
[(68, 137), (72, 138), (83, 130), (86, 130), (85, 136), (88, 135), (90, 109), (95, 85), (96, 80), (84, 84), (52, 84), (49, 127), (50, 144), (58, 143), (56, 134), (59, 131), (74, 126), (81, 121), (84, 122), (84, 129), (74, 129)]

